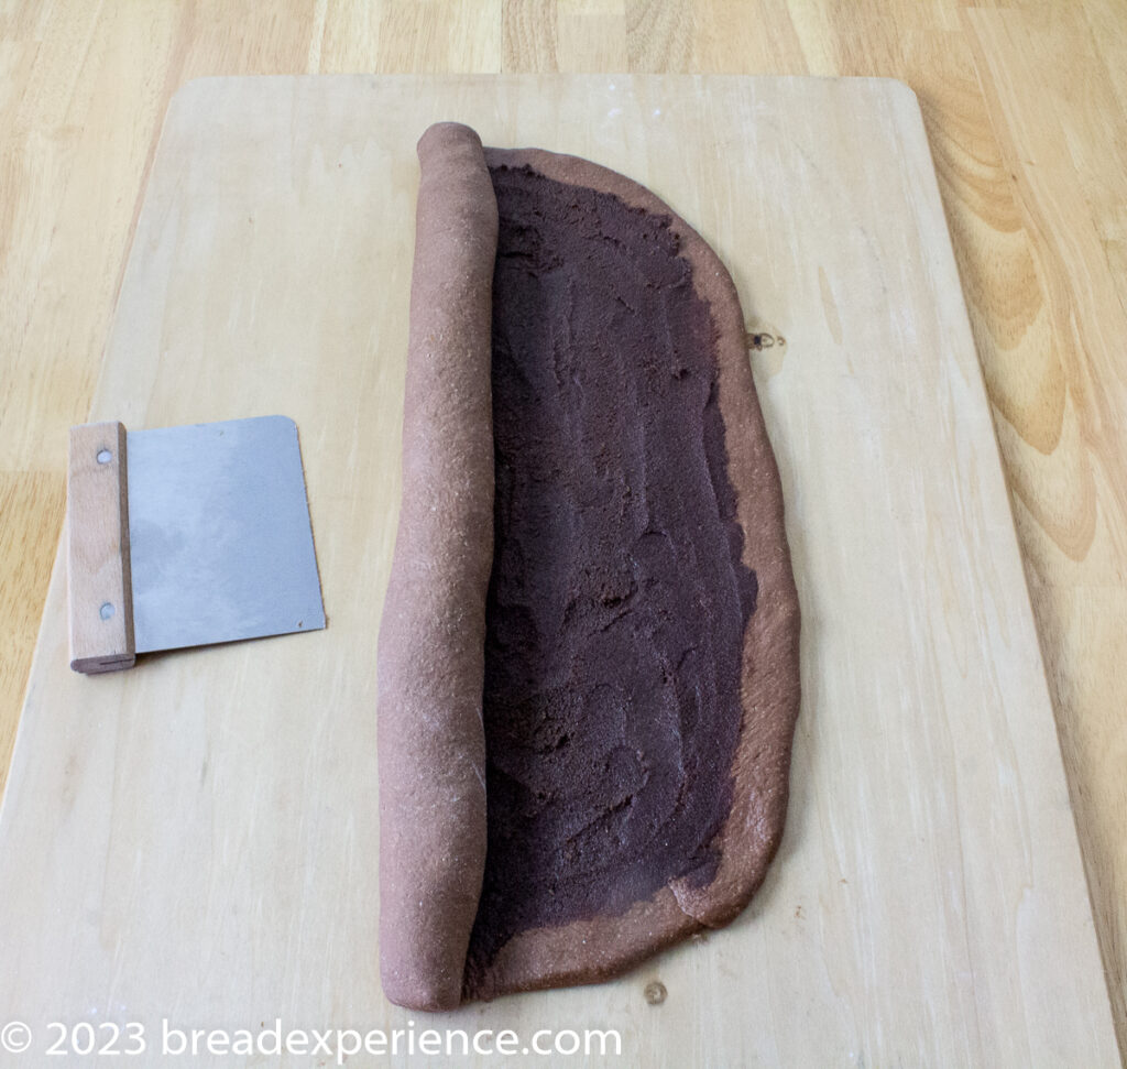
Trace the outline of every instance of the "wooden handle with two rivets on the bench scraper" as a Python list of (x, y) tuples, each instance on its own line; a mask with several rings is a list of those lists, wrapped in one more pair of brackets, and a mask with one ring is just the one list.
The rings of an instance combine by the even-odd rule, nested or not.
[(133, 584), (125, 427), (71, 427), (66, 470), (66, 586), (76, 672), (132, 668)]

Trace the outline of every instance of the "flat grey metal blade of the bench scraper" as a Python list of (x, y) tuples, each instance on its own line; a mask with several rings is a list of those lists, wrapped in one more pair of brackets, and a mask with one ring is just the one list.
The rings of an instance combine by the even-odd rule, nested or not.
[(126, 434), (136, 652), (325, 627), (298, 427)]

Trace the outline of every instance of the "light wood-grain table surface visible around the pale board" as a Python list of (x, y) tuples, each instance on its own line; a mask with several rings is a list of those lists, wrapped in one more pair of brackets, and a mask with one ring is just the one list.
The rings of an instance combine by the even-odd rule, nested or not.
[(89, 407), (168, 99), (202, 74), (346, 71), (878, 74), (916, 91), (1125, 1049), (1121, 0), (2, 0), (0, 770), (63, 519), (66, 427)]

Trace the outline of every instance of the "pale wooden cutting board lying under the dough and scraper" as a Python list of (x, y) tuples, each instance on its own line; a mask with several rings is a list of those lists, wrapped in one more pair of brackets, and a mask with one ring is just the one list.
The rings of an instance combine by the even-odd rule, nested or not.
[[(329, 625), (79, 677), (56, 562), (0, 816), (0, 1015), (39, 1052), (52, 1021), (135, 1021), (157, 1044), (162, 1018), (419, 1016), (389, 1006), (378, 977), (374, 652), (415, 141), (440, 118), (623, 170), (720, 253), (762, 335), (752, 362), (804, 613), (791, 811), (744, 916), (620, 981), (440, 1026), (616, 1028), (615, 1062), (646, 1066), (1115, 1063), (920, 112), (904, 86), (868, 79), (180, 90), (91, 418), (293, 416)], [(655, 980), (660, 1005), (644, 993)]]

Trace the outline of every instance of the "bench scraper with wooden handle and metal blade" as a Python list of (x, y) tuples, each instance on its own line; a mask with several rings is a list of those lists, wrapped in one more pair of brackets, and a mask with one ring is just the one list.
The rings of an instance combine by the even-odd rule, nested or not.
[(325, 627), (298, 427), (71, 427), (71, 668)]

